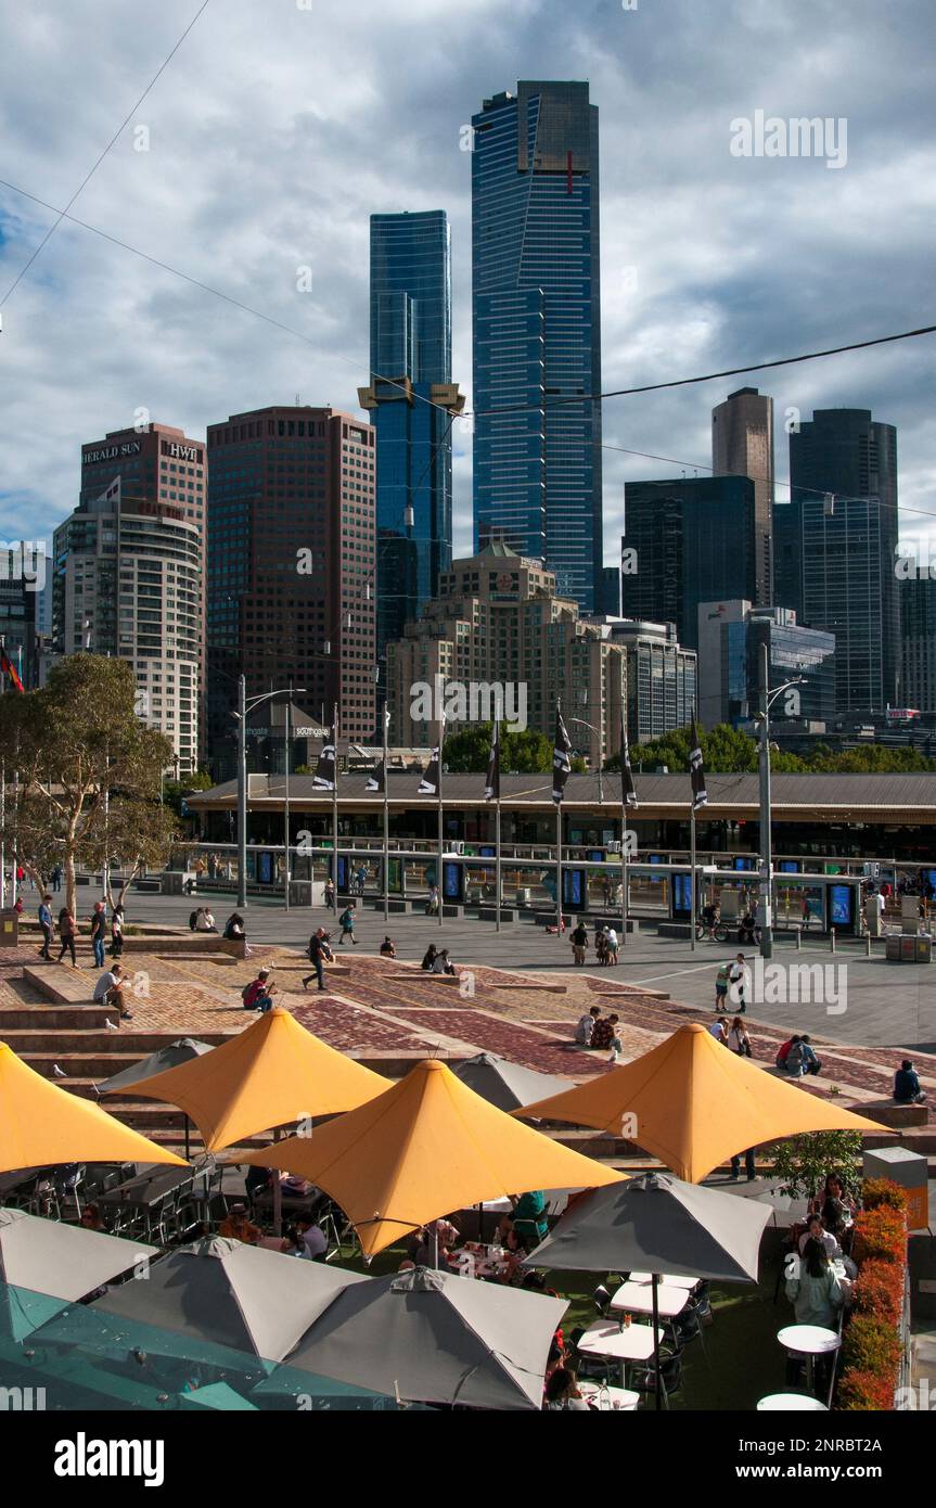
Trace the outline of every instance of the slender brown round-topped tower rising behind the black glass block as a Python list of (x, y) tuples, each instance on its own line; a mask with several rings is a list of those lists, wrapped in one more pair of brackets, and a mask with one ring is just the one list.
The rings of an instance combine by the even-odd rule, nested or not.
[(767, 606), (773, 600), (773, 398), (739, 388), (711, 410), (711, 469), (754, 483), (755, 603)]

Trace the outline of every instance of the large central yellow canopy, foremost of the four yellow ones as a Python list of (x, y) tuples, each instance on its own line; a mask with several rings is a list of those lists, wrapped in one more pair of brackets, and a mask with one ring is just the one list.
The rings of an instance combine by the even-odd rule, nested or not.
[(597, 1188), (621, 1175), (511, 1120), (440, 1063), (416, 1063), (377, 1099), (314, 1137), (238, 1158), (312, 1179), (357, 1229), (366, 1256), (427, 1220), (535, 1188)]

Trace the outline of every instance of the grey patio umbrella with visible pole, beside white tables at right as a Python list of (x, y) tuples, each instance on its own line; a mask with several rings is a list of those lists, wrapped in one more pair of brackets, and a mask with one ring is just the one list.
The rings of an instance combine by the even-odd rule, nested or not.
[(755, 1283), (767, 1205), (648, 1173), (576, 1200), (526, 1258), (561, 1271), (653, 1274), (653, 1327), (660, 1407), (657, 1285), (660, 1273)]

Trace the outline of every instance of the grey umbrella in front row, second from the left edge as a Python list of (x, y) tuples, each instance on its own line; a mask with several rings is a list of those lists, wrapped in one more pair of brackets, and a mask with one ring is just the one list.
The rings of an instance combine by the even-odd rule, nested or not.
[[(190, 1345), (229, 1347), (280, 1362), (342, 1288), (368, 1283), (320, 1262), (208, 1237), (154, 1262), (145, 1283), (124, 1283), (90, 1304), (101, 1316), (157, 1326)], [(173, 1347), (175, 1351), (175, 1347)]]

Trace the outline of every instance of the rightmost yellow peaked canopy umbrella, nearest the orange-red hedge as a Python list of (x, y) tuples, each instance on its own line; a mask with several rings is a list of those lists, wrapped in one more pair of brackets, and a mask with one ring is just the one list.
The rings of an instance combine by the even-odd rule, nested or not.
[(850, 1110), (730, 1053), (698, 1022), (598, 1078), (512, 1110), (626, 1136), (698, 1184), (726, 1157), (803, 1131), (877, 1131)]

